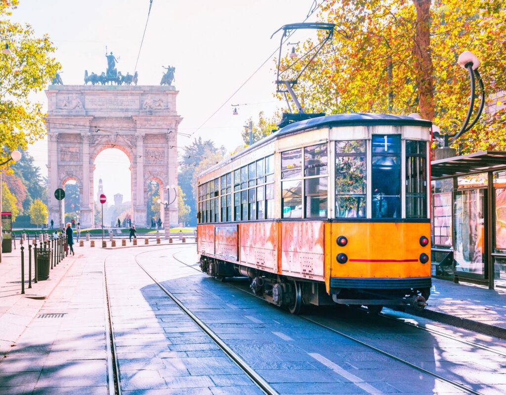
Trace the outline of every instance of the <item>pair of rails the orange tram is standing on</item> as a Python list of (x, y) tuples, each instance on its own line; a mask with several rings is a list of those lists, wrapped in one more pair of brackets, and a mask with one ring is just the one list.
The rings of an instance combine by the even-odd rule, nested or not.
[[(181, 252), (181, 251), (178, 251), (178, 252)], [(183, 264), (183, 265), (185, 265), (185, 266), (187, 266), (187, 267), (189, 267), (191, 269), (194, 269), (194, 270), (198, 271), (199, 273), (202, 273), (202, 271), (199, 268), (199, 265), (190, 265), (190, 264), (187, 264), (183, 260), (181, 260), (178, 257), (176, 257), (175, 255), (178, 252), (174, 252), (173, 253), (173, 255), (172, 255), (173, 259), (177, 260), (181, 264)], [(245, 292), (248, 295), (251, 295), (251, 296), (257, 297), (257, 298), (259, 298), (261, 300), (264, 300), (260, 296), (257, 296), (255, 294), (249, 292), (248, 290), (243, 289), (243, 288), (241, 288), (241, 287), (239, 287), (237, 285), (234, 285), (232, 283), (228, 283), (228, 285), (234, 287), (237, 290)], [(343, 337), (345, 337), (345, 338), (347, 338), (349, 340), (352, 340), (352, 341), (354, 341), (354, 342), (356, 342), (356, 343), (358, 343), (358, 344), (360, 344), (360, 345), (362, 345), (364, 347), (367, 347), (367, 348), (373, 350), (374, 352), (376, 352), (378, 354), (381, 354), (383, 356), (386, 356), (386, 357), (390, 358), (391, 360), (394, 360), (394, 361), (397, 361), (399, 363), (402, 363), (402, 364), (404, 364), (404, 365), (406, 365), (406, 366), (408, 366), (408, 367), (410, 367), (412, 369), (415, 369), (415, 370), (417, 370), (419, 372), (428, 374), (428, 375), (432, 376), (433, 378), (435, 378), (437, 380), (440, 380), (440, 381), (442, 381), (442, 382), (444, 382), (444, 383), (446, 383), (448, 385), (451, 385), (452, 387), (454, 387), (454, 388), (456, 388), (458, 390), (461, 390), (461, 391), (464, 391), (464, 392), (470, 393), (470, 394), (482, 395), (482, 392), (476, 391), (473, 388), (471, 388), (471, 387), (469, 387), (469, 386), (467, 386), (465, 384), (461, 384), (461, 383), (459, 383), (459, 382), (457, 382), (455, 380), (446, 378), (446, 377), (444, 377), (444, 376), (442, 376), (442, 375), (440, 375), (440, 374), (438, 374), (436, 372), (433, 372), (431, 370), (428, 370), (428, 369), (425, 369), (425, 368), (423, 368), (421, 366), (418, 366), (418, 365), (416, 365), (414, 363), (411, 363), (411, 362), (405, 360), (404, 358), (398, 357), (398, 356), (396, 356), (396, 355), (394, 355), (392, 353), (389, 353), (386, 350), (383, 350), (381, 348), (376, 347), (373, 344), (369, 344), (369, 343), (367, 343), (367, 342), (365, 342), (363, 340), (360, 340), (357, 337), (354, 337), (354, 336), (351, 336), (351, 335), (349, 335), (347, 333), (344, 333), (343, 331), (340, 331), (338, 329), (332, 328), (332, 327), (330, 327), (330, 326), (328, 326), (326, 324), (323, 324), (322, 322), (319, 322), (318, 320), (315, 320), (315, 319), (310, 318), (310, 317), (305, 316), (305, 315), (300, 315), (299, 317), (302, 318), (302, 319), (304, 319), (304, 320), (306, 320), (306, 321), (308, 321), (308, 322), (311, 322), (311, 323), (313, 323), (313, 324), (315, 324), (315, 325), (317, 325), (319, 327), (322, 327), (322, 328), (324, 328), (326, 330), (329, 330), (329, 331), (331, 331), (333, 333), (339, 334), (340, 336), (343, 336)], [(457, 341), (457, 342), (465, 344), (467, 346), (471, 346), (471, 347), (474, 347), (474, 348), (482, 349), (482, 350), (485, 350), (485, 351), (487, 351), (489, 353), (492, 353), (492, 354), (495, 354), (495, 355), (498, 355), (498, 356), (501, 356), (501, 357), (505, 357), (506, 356), (506, 353), (500, 352), (500, 350), (497, 350), (497, 349), (494, 349), (494, 348), (491, 348), (491, 347), (487, 347), (485, 345), (478, 344), (478, 343), (475, 343), (475, 342), (471, 342), (471, 341), (468, 341), (468, 340), (455, 338), (455, 337), (452, 337), (452, 336), (450, 336), (450, 335), (448, 335), (446, 333), (439, 332), (439, 331), (436, 331), (436, 330), (433, 330), (433, 329), (430, 329), (430, 328), (425, 328), (425, 327), (420, 326), (418, 324), (405, 322), (405, 321), (403, 321), (401, 319), (387, 317), (384, 314), (378, 315), (378, 317), (381, 317), (384, 320), (391, 320), (391, 321), (397, 322), (399, 325), (408, 325), (408, 326), (414, 327), (414, 328), (416, 328), (416, 329), (418, 329), (420, 331), (426, 331), (426, 332), (432, 333), (432, 334), (437, 335), (437, 336), (442, 336), (442, 337), (445, 337), (445, 338), (449, 338), (451, 340)]]

